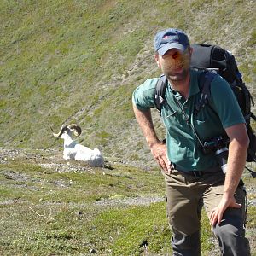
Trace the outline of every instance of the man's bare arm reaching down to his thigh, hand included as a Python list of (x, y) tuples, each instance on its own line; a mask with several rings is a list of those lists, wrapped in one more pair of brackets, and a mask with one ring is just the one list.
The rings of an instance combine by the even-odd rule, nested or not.
[(210, 215), (211, 225), (220, 224), (223, 213), (228, 207), (240, 208), (236, 203), (234, 194), (247, 159), (247, 147), (249, 139), (245, 124), (232, 125), (225, 129), (230, 138), (227, 172), (225, 174), (224, 194), (218, 207), (215, 207)]

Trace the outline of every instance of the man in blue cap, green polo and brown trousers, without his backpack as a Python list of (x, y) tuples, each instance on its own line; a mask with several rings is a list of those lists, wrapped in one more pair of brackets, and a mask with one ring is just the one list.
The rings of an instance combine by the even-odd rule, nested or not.
[[(137, 87), (132, 101), (137, 121), (165, 177), (173, 255), (201, 255), (202, 202), (222, 255), (249, 255), (244, 234), (246, 195), (240, 183), (248, 137), (236, 98), (229, 84), (216, 75), (209, 104), (195, 113), (195, 102), (201, 96), (201, 72), (190, 69), (193, 49), (189, 38), (183, 31), (169, 28), (156, 34), (154, 49), (155, 61), (168, 79), (166, 102), (161, 109), (166, 144), (157, 137), (150, 112), (156, 107), (158, 79), (148, 79)], [(224, 174), (216, 151), (205, 154), (198, 146), (198, 137), (208, 142), (225, 134), (230, 144)]]

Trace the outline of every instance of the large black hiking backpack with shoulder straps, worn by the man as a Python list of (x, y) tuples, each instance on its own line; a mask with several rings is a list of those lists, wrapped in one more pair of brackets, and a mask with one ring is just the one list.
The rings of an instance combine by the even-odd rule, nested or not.
[[(250, 139), (247, 149), (247, 162), (256, 162), (256, 136), (250, 125), (251, 119), (256, 120), (255, 115), (251, 112), (251, 106), (254, 106), (253, 96), (242, 81), (234, 55), (217, 45), (193, 44), (192, 48), (193, 53), (190, 66), (196, 70), (203, 70), (199, 79), (201, 97), (199, 102), (195, 104), (195, 114), (209, 103), (211, 82), (218, 73), (230, 84), (230, 88), (233, 90), (246, 120), (247, 134)], [(166, 84), (168, 84), (166, 76), (162, 75), (155, 87), (154, 102), (160, 114), (161, 105), (165, 102)], [(212, 109), (212, 111), (214, 110)], [(247, 170), (252, 173), (253, 177), (256, 177), (256, 172), (253, 173), (248, 168)]]

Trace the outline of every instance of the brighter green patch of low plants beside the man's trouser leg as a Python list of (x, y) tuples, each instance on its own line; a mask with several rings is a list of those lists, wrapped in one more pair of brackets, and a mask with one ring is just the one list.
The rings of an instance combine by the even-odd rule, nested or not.
[(171, 253), (164, 203), (102, 212), (93, 224), (113, 255), (141, 255), (146, 245), (151, 253)]

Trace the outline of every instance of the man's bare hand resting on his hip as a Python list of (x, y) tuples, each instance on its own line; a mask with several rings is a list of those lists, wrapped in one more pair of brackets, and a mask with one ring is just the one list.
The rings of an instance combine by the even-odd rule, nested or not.
[(154, 159), (158, 162), (160, 167), (166, 172), (167, 174), (172, 173), (172, 166), (171, 162), (167, 158), (167, 149), (165, 143), (154, 143), (150, 146), (151, 153), (154, 156)]

